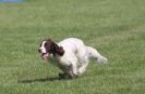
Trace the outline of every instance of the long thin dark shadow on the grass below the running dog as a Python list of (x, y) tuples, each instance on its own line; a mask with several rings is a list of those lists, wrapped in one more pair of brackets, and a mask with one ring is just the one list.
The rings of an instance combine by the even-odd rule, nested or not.
[(37, 78), (37, 79), (22, 79), (19, 80), (19, 83), (33, 83), (33, 82), (48, 82), (48, 81), (58, 81), (58, 80), (63, 80), (60, 79), (59, 77), (50, 77), (50, 78)]

